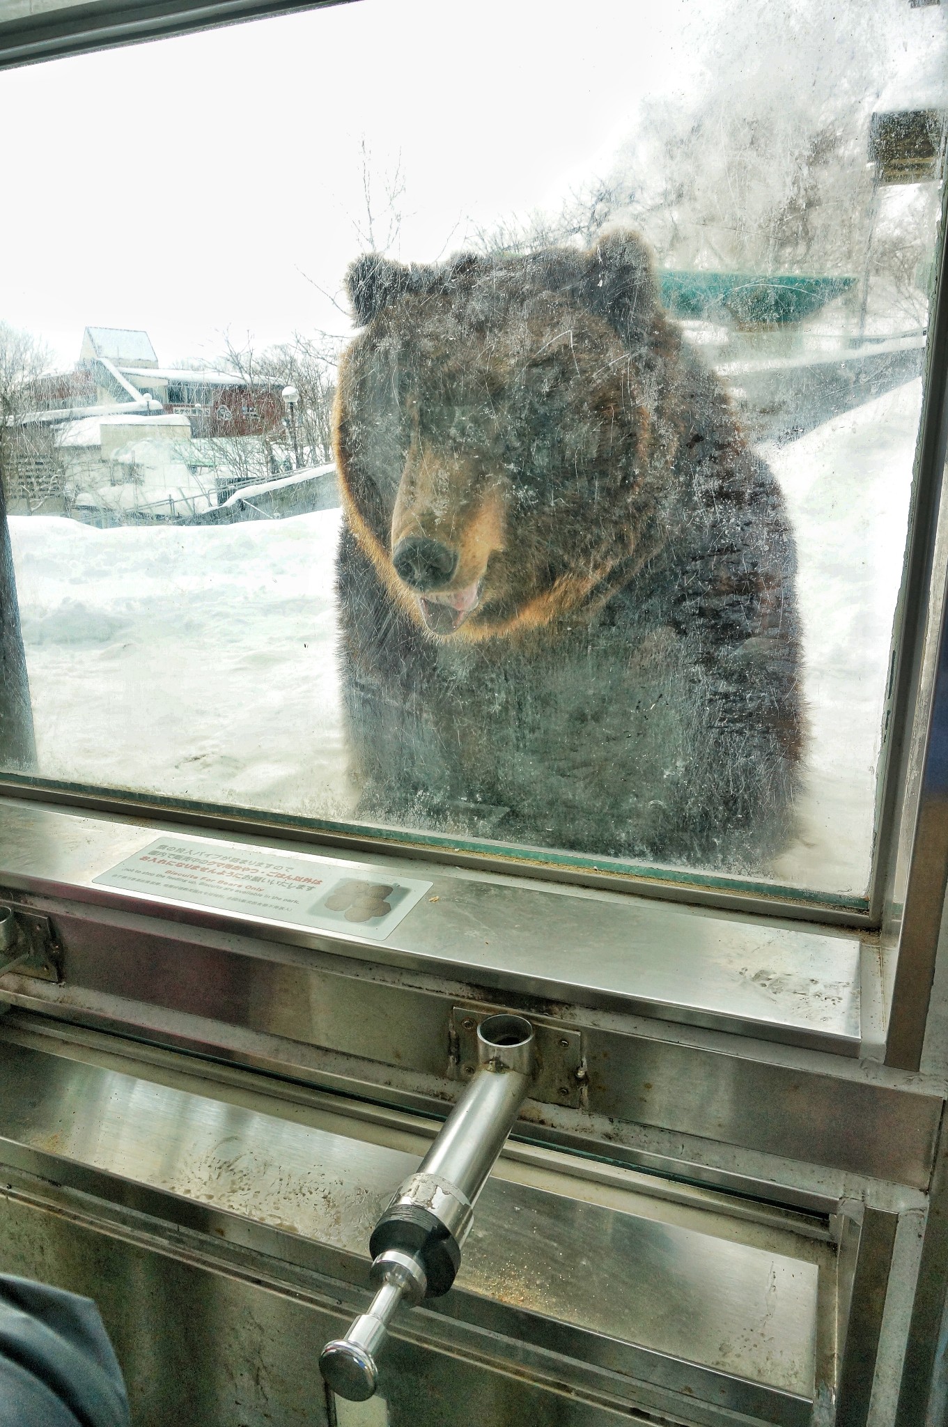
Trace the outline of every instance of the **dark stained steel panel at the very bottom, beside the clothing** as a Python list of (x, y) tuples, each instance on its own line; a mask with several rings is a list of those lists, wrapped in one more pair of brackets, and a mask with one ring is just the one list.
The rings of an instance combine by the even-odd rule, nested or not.
[[(135, 1427), (326, 1427), (316, 1349), (339, 1330), (342, 1314), (305, 1293), (274, 1291), (249, 1276), (105, 1234), (74, 1213), (1, 1193), (0, 1203), (3, 1270), (98, 1303)], [(345, 1404), (336, 1427), (629, 1423), (627, 1410), (583, 1400), (556, 1381), (529, 1381), (403, 1339), (392, 1343), (385, 1387), (388, 1400), (373, 1417), (358, 1417)], [(707, 1421), (700, 1410), (696, 1420)]]

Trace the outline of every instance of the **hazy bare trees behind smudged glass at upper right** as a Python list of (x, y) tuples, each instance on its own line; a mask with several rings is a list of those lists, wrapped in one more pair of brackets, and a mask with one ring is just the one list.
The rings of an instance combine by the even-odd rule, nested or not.
[(922, 320), (938, 187), (880, 201), (867, 161), (900, 14), (897, 0), (723, 4), (690, 37), (703, 78), (646, 98), (604, 176), (478, 245), (586, 244), (627, 224), (663, 267), (868, 274), (880, 311)]

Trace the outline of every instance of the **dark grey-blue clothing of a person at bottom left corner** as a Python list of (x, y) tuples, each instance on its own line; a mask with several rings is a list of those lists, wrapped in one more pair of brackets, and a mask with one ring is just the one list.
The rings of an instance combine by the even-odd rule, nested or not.
[(98, 1309), (0, 1274), (0, 1427), (128, 1427), (128, 1397)]

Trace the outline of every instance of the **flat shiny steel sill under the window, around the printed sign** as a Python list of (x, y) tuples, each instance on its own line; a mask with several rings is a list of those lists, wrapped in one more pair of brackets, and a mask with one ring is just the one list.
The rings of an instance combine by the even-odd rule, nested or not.
[[(429, 866), (423, 899), (385, 942), (105, 890), (93, 879), (154, 829), (4, 801), (0, 886), (121, 906), (287, 945), (460, 976), (499, 990), (622, 1009), (858, 1055), (860, 943), (766, 919)], [(262, 845), (262, 839), (244, 839)], [(305, 853), (305, 849), (297, 850)], [(342, 859), (332, 859), (338, 866)], [(392, 859), (371, 859), (392, 869)], [(418, 870), (415, 868), (413, 870)]]

